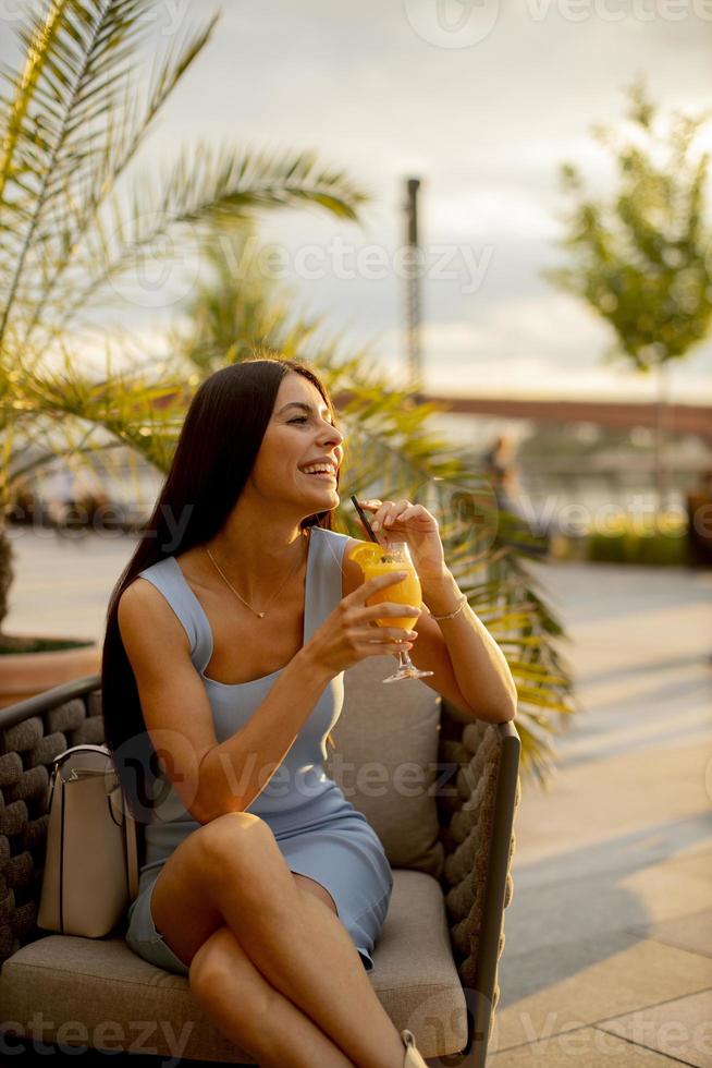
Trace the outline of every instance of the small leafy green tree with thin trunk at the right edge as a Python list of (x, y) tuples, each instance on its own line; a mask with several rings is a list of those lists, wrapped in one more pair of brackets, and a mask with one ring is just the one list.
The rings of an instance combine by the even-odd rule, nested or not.
[(709, 154), (695, 151), (709, 112), (676, 112), (663, 133), (642, 78), (628, 96), (629, 136), (592, 128), (617, 167), (611, 196), (590, 197), (580, 171), (569, 162), (561, 166), (562, 192), (572, 207), (562, 214), (566, 232), (560, 245), (572, 266), (542, 274), (610, 324), (615, 340), (607, 361), (656, 375), (655, 485), (663, 509), (668, 369), (704, 340), (712, 316), (712, 231), (704, 220)]

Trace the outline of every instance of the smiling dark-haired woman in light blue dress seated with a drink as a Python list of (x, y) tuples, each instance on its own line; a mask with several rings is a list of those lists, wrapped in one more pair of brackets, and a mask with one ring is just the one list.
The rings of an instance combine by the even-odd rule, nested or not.
[[(107, 617), (107, 743), (146, 824), (126, 940), (187, 975), (216, 1027), (260, 1065), (420, 1068), (366, 975), (392, 872), (326, 775), (326, 739), (344, 670), (398, 647), (415, 660), (416, 636), (428, 682), (468, 719), (480, 696), (486, 717), (512, 718), (513, 683), (493, 641), (463, 631), (471, 610), (450, 616), (458, 591), (444, 561), (423, 598), (472, 664), (469, 700), (438, 623), (419, 618), (409, 638), (378, 627), (403, 606), (366, 607), (397, 580), (364, 583), (346, 551), (358, 543), (331, 529), (343, 457), (331, 400), (304, 363), (248, 360), (195, 393)], [(421, 506), (370, 507), (404, 530), (415, 513), (439, 565)]]

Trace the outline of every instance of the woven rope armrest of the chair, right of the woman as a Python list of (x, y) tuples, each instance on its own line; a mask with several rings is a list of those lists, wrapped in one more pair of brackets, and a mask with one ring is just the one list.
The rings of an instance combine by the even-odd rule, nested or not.
[[(500, 999), (498, 964), (504, 909), (514, 890), (514, 816), (519, 804), (520, 740), (513, 723), (463, 726), (443, 700), (440, 756), (456, 769), (439, 797), (445, 863), (441, 883), (453, 954), (470, 1009), (469, 1041), (483, 1064)], [(454, 787), (454, 788), (453, 788)]]

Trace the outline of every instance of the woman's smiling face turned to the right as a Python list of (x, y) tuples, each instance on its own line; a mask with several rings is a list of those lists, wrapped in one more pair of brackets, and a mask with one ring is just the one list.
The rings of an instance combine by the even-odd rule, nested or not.
[(335, 508), (339, 493), (333, 472), (308, 474), (304, 469), (326, 460), (337, 470), (344, 457), (343, 440), (317, 387), (304, 375), (290, 372), (280, 385), (251, 472), (254, 488), (263, 497), (298, 506), (303, 518)]

